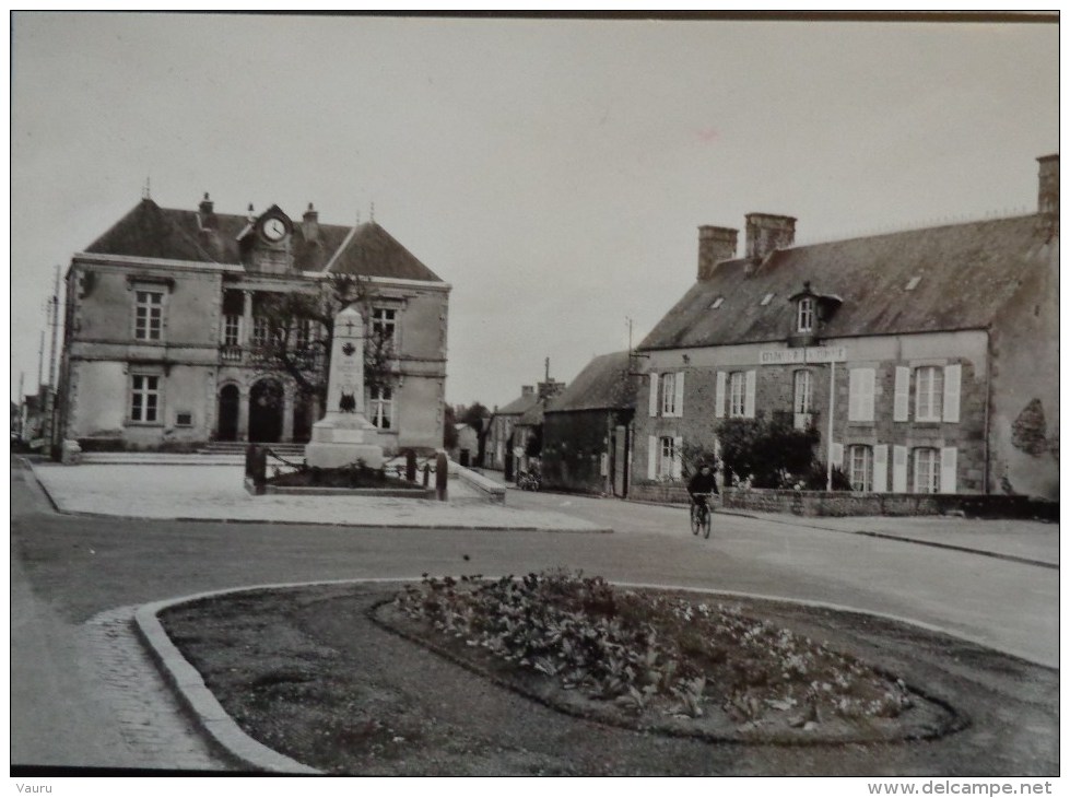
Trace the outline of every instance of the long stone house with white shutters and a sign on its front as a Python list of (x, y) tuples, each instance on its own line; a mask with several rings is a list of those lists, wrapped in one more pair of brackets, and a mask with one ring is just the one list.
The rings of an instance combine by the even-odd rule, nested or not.
[(791, 216), (699, 228), (695, 284), (638, 350), (632, 495), (682, 494), (729, 419), (820, 433), (869, 493), (1057, 498), (1058, 155), (1035, 214), (795, 246)]

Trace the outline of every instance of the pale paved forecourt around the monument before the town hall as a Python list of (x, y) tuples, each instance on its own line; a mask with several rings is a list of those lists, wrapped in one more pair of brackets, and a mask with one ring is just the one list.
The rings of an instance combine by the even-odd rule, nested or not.
[(483, 500), (450, 479), (448, 501), (368, 496), (252, 496), (236, 465), (31, 463), (62, 513), (133, 518), (330, 524), (351, 527), (611, 532), (563, 513), (520, 509)]

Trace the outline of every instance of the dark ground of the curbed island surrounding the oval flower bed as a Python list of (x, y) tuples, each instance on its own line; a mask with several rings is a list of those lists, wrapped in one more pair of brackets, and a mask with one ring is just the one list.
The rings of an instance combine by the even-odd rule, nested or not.
[(644, 732), (557, 712), (373, 622), (381, 586), (234, 594), (162, 617), (249, 734), (363, 775), (1050, 776), (1058, 671), (867, 615), (739, 601), (950, 706), (931, 740), (773, 746)]

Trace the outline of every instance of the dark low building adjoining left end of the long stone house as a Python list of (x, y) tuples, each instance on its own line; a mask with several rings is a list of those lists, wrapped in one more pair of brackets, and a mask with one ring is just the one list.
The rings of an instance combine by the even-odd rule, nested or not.
[(628, 352), (600, 355), (546, 406), (544, 486), (627, 495), (630, 429), (638, 385), (632, 373)]

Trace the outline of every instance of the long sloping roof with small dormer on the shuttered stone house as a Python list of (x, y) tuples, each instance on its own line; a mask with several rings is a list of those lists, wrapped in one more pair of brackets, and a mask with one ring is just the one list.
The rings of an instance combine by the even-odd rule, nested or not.
[[(843, 300), (822, 325), (823, 338), (986, 328), (1025, 278), (1046, 268), (1050, 233), (1043, 222), (1016, 216), (792, 247), (756, 267), (725, 261), (639, 349), (783, 341), (796, 318), (787, 298), (806, 281), (813, 292)], [(916, 287), (906, 290), (915, 277)]]

